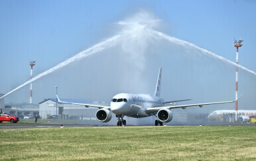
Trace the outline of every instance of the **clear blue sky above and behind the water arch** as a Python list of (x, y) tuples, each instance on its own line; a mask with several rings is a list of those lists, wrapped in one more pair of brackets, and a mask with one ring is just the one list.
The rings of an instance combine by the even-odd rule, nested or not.
[[(29, 60), (36, 60), (33, 74), (36, 76), (78, 52), (113, 36), (118, 32), (118, 27), (116, 27), (115, 23), (141, 10), (145, 10), (160, 19), (160, 27), (157, 28), (160, 32), (192, 42), (232, 61), (235, 61), (233, 38), (238, 39), (241, 37), (244, 40), (244, 46), (239, 48), (239, 64), (256, 71), (256, 48), (254, 47), (256, 38), (255, 8), (255, 1), (0, 1), (0, 93), (7, 93), (29, 80)], [(172, 50), (166, 45), (164, 49), (172, 52), (182, 52), (182, 47)], [(115, 51), (118, 50), (106, 52), (111, 54)], [(89, 60), (70, 64), (63, 70), (58, 70), (42, 78), (42, 80), (34, 82), (34, 103), (38, 103), (44, 98), (54, 97), (54, 85), (60, 87), (60, 92), (64, 97), (85, 97), (86, 99), (97, 100), (103, 97), (106, 101), (111, 99), (115, 93), (121, 92), (121, 89), (129, 91), (129, 89), (120, 87), (110, 93), (100, 92), (101, 90), (106, 91), (108, 88), (101, 87), (99, 85), (101, 81), (99, 80), (106, 80), (107, 83), (101, 83), (105, 86), (107, 84), (111, 86), (111, 81), (115, 84), (120, 82), (115, 81), (117, 79), (112, 79), (113, 76), (109, 76), (111, 68), (109, 68), (110, 71), (104, 71), (104, 74), (100, 73), (106, 68), (104, 64), (105, 66), (113, 64), (111, 62), (113, 57), (102, 56), (104, 60), (101, 60), (100, 54), (95, 57), (97, 59), (92, 58), (90, 60), (88, 58)], [(108, 58), (109, 60), (107, 60)], [(152, 59), (159, 64), (166, 64), (166, 59), (164, 58), (156, 60), (153, 56)], [(151, 62), (152, 59), (146, 61)], [(174, 56), (170, 57), (170, 59), (177, 60), (172, 64), (176, 64), (179, 67), (180, 58)], [(177, 97), (182, 97), (181, 99), (190, 97), (184, 93), (200, 95), (199, 91), (198, 93), (194, 92), (194, 89), (200, 88), (200, 84), (203, 88), (202, 91), (206, 94), (208, 91), (213, 90), (208, 86), (212, 82), (220, 80), (225, 82), (221, 87), (222, 90), (226, 91), (225, 96), (230, 91), (233, 93), (227, 95), (227, 97), (217, 97), (216, 95), (222, 92), (212, 91), (209, 99), (206, 99), (205, 96), (195, 97), (193, 100), (196, 99), (195, 101), (198, 102), (211, 101), (211, 98), (214, 99), (213, 101), (226, 101), (225, 99), (229, 101), (229, 99), (233, 99), (235, 93), (235, 70), (233, 68), (229, 69), (230, 66), (218, 63), (208, 67), (208, 62), (211, 62), (211, 60), (206, 60), (205, 63), (202, 63), (201, 61), (204, 60), (204, 57), (196, 58), (196, 60), (190, 59), (190, 57), (187, 59), (182, 63), (191, 63), (190, 65), (194, 69), (192, 74), (189, 74), (190, 71), (186, 70), (190, 67), (184, 66), (184, 68), (177, 69), (177, 72), (174, 72), (174, 79), (166, 79), (169, 83), (170, 80), (173, 80), (171, 83), (175, 83), (175, 85), (170, 85), (173, 89), (175, 89), (174, 86), (183, 86), (181, 82), (188, 83), (180, 80), (192, 80), (194, 87), (191, 87), (191, 89), (188, 87), (176, 89), (178, 90), (176, 91), (178, 93)], [(99, 62), (97, 61), (101, 61), (101, 63), (98, 64)], [(200, 65), (196, 65), (198, 62), (200, 62)], [(90, 64), (90, 66), (85, 64)], [(121, 63), (116, 64), (117, 68), (122, 65)], [(216, 69), (214, 67), (219, 70), (227, 68), (230, 71), (230, 78), (227, 78), (227, 75), (224, 76), (223, 72), (218, 73), (213, 70)], [(196, 72), (196, 70), (202, 68), (206, 68), (208, 71), (204, 70), (203, 75)], [(73, 74), (74, 71), (72, 72), (71, 69), (76, 70), (77, 73)], [(94, 75), (90, 74), (92, 70)], [(155, 77), (157, 77), (155, 75), (159, 68), (147, 73), (146, 71), (149, 70), (151, 71), (153, 68), (146, 67), (143, 74), (148, 78), (146, 77), (147, 79), (143, 81), (153, 79), (152, 83), (147, 82), (151, 86), (151, 84), (155, 84)], [(167, 72), (167, 69), (165, 71)], [(214, 75), (214, 79), (208, 75), (210, 72), (217, 73)], [(178, 76), (179, 73), (182, 74)], [(169, 74), (169, 76), (172, 74)], [(202, 76), (201, 81), (197, 80), (197, 74)], [(87, 77), (83, 78), (81, 75), (86, 75)], [(99, 75), (102, 75), (103, 78)], [(251, 89), (251, 91), (248, 91), (250, 97), (246, 99), (246, 96), (244, 96), (244, 101), (255, 98), (256, 87), (254, 82), (256, 77), (246, 72), (239, 76), (244, 76), (239, 79), (239, 81), (243, 81), (239, 89), (244, 92)], [(72, 82), (70, 83), (71, 89), (66, 89), (65, 87), (68, 82)], [(121, 86), (120, 84), (117, 86)], [(226, 89), (225, 85), (227, 84), (231, 85)], [(82, 88), (83, 86), (86, 87)], [(131, 85), (128, 86), (131, 88)], [(166, 86), (168, 87), (168, 85)], [(135, 86), (135, 88), (137, 87)], [(151, 91), (154, 88), (143, 91), (145, 88), (139, 90), (138, 87), (138, 90), (131, 89), (129, 92), (152, 93)], [(85, 90), (90, 91), (90, 94), (86, 94)], [(73, 92), (77, 94), (72, 94)], [(101, 94), (98, 94), (98, 92)], [(168, 93), (168, 91), (163, 91), (163, 94), (165, 93)], [(174, 95), (165, 95), (167, 98), (164, 99), (169, 99), (169, 96), (174, 97)], [(174, 99), (176, 98), (174, 97)], [(29, 85), (5, 97), (5, 101), (29, 102)], [(244, 105), (253, 108), (253, 103), (245, 103)]]

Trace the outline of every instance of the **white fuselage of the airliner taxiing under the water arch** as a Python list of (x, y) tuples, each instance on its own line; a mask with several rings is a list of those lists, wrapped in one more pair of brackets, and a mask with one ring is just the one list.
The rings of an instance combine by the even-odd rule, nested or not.
[[(113, 102), (115, 99), (127, 99), (127, 102)], [(155, 113), (147, 113), (149, 107), (164, 106), (164, 99), (151, 95), (119, 93), (113, 97), (110, 103), (110, 108), (115, 115), (126, 115), (127, 117), (149, 117)]]

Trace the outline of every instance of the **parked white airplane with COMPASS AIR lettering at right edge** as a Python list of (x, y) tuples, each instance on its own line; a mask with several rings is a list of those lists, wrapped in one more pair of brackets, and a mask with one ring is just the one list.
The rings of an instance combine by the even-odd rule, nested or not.
[(219, 117), (232, 117), (238, 116), (243, 119), (243, 121), (249, 121), (250, 118), (256, 117), (256, 110), (217, 110), (213, 111), (208, 115), (208, 119), (217, 119)]

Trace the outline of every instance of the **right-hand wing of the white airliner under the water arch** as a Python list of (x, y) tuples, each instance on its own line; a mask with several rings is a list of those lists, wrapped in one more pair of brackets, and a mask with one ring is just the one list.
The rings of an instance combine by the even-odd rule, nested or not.
[[(236, 101), (238, 101), (238, 99)], [(220, 103), (233, 103), (233, 102), (236, 102), (236, 101), (224, 101), (224, 102), (213, 102), (213, 103), (198, 103), (198, 104), (190, 104), (190, 105), (173, 105), (173, 106), (152, 107), (152, 108), (147, 108), (146, 111), (149, 111), (149, 112), (153, 113), (153, 112), (159, 111), (160, 109), (176, 109), (176, 108), (186, 109), (186, 107), (192, 107), (192, 106), (203, 107), (203, 105), (215, 105), (215, 104), (220, 104)]]

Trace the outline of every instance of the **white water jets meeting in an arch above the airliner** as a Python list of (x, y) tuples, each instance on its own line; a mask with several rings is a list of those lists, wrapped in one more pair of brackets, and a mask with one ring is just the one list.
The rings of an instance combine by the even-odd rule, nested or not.
[[(69, 58), (68, 60), (65, 60), (64, 62), (54, 66), (53, 68), (50, 68), (49, 70), (46, 70), (45, 72), (42, 72), (41, 74), (38, 74), (36, 77), (31, 78), (31, 80), (23, 83), (22, 85), (19, 85), (19, 87), (16, 87), (12, 91), (9, 91), (9, 93), (3, 95), (1, 98), (13, 93), (13, 91), (16, 91), (17, 89), (20, 89), (21, 87), (27, 85), (28, 83), (32, 83), (32, 81), (38, 80), (39, 78), (42, 78), (42, 76), (46, 76), (47, 74), (50, 74), (54, 72), (55, 70), (58, 70), (59, 68), (62, 68), (63, 66), (66, 66), (70, 64), (71, 62), (74, 62), (75, 60), (80, 60), (82, 58), (85, 58), (87, 56), (90, 56), (92, 54), (95, 54), (97, 52), (101, 52), (105, 48), (109, 48), (111, 46), (117, 45), (118, 43), (123, 46), (124, 50), (129, 50), (129, 53), (133, 54), (132, 56), (137, 56), (138, 54), (141, 54), (141, 57), (139, 57), (139, 60), (141, 62), (144, 62), (144, 55), (145, 54), (145, 48), (147, 48), (147, 42), (148, 40), (157, 40), (157, 39), (165, 39), (169, 42), (174, 42), (175, 44), (184, 46), (186, 48), (192, 48), (195, 50), (198, 50), (205, 54), (206, 56), (210, 56), (211, 58), (216, 58), (218, 60), (222, 60), (222, 62), (225, 62), (227, 64), (231, 64), (233, 66), (236, 66), (237, 68), (241, 68), (242, 70), (245, 70), (246, 72), (249, 72), (256, 76), (256, 73), (252, 70), (249, 70), (239, 64), (236, 64), (230, 60), (227, 60), (226, 58), (222, 56), (218, 56), (217, 54), (214, 54), (213, 52), (210, 52), (204, 48), (200, 48), (199, 46), (196, 46), (195, 44), (192, 44), (190, 42), (186, 42), (184, 40), (180, 40), (179, 38), (175, 38), (172, 36), (168, 36), (162, 32), (159, 32), (157, 30), (154, 30), (153, 28), (157, 26), (158, 21), (151, 21), (151, 17), (145, 14), (137, 14), (136, 17), (133, 17), (134, 19), (128, 19), (127, 22), (120, 21), (118, 24), (125, 26), (122, 28), (121, 32), (115, 36), (112, 36), (111, 38), (108, 38), (107, 40), (104, 40), (103, 42), (99, 42), (98, 44), (92, 46), (91, 48), (88, 48), (72, 58)], [(147, 21), (150, 20), (150, 21)], [(141, 40), (143, 39), (143, 40)], [(127, 43), (132, 42), (133, 44), (127, 45)], [(140, 42), (140, 43), (139, 43)], [(141, 50), (141, 52), (136, 52), (136, 50), (131, 50), (133, 46), (137, 46), (138, 49)], [(141, 49), (142, 48), (142, 49)], [(136, 52), (136, 53), (133, 53)], [(138, 57), (135, 57), (136, 60), (138, 60)]]

